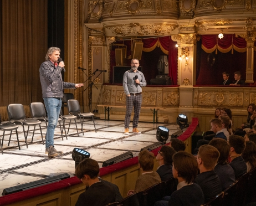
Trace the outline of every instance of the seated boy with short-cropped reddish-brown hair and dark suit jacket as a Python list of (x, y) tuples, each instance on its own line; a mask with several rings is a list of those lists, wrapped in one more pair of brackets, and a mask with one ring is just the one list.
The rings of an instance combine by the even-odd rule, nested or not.
[(214, 199), (222, 191), (221, 181), (214, 171), (218, 158), (219, 151), (215, 147), (211, 145), (199, 147), (197, 163), (200, 173), (194, 182), (203, 190), (205, 203)]

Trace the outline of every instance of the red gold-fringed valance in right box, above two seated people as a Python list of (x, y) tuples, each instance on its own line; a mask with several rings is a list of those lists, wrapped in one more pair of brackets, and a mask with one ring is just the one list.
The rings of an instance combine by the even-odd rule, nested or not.
[[(235, 34), (225, 34), (222, 39), (218, 35), (202, 35), (202, 49), (206, 53), (212, 53), (214, 50), (219, 50), (222, 53), (227, 53), (233, 49), (237, 52), (246, 52), (247, 43), (242, 37), (235, 37)], [(254, 50), (256, 51), (256, 42), (254, 42)]]

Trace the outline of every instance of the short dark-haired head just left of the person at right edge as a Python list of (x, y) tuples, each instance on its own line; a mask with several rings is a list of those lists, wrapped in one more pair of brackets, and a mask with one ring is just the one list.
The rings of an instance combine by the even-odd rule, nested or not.
[(231, 135), (228, 138), (228, 145), (230, 146), (229, 155), (231, 155), (233, 152), (240, 155), (244, 151), (245, 140), (239, 135)]

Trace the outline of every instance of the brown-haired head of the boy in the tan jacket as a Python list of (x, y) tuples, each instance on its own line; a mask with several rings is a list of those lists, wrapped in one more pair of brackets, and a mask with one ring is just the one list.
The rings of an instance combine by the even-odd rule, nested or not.
[(145, 172), (150, 172), (153, 170), (154, 162), (155, 162), (155, 156), (152, 152), (149, 152), (149, 150), (142, 150), (139, 153), (139, 166), (142, 168)]

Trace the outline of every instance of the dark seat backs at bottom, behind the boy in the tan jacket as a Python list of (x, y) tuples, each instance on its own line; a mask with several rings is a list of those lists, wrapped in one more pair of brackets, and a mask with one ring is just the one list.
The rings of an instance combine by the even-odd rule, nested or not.
[(167, 181), (151, 186), (145, 191), (136, 192), (122, 199), (120, 202), (110, 203), (109, 206), (153, 206), (158, 200), (170, 196), (177, 189), (177, 179), (171, 178)]

